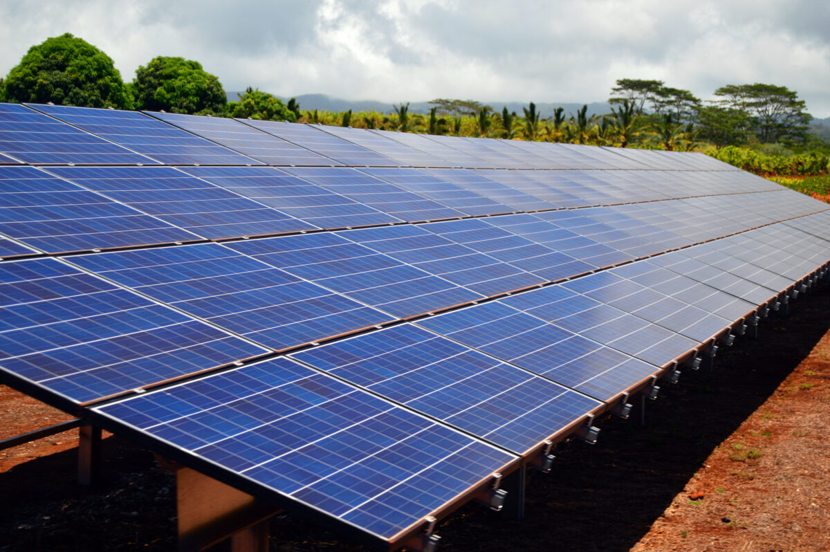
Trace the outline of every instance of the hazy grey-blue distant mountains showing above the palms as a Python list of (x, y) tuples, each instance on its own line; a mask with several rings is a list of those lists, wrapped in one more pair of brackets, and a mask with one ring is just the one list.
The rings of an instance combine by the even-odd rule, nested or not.
[[(242, 91), (227, 92), (228, 101), (236, 101), (239, 99), (237, 94), (242, 94)], [(289, 98), (277, 96), (281, 100), (287, 102)], [(378, 111), (380, 113), (391, 113), (393, 107), (391, 103), (375, 100), (342, 100), (340, 98), (333, 98), (325, 94), (303, 94), (295, 96), (296, 100), (300, 102), (300, 109), (302, 110), (320, 110), (320, 111)], [(406, 103), (406, 102), (403, 102)], [(395, 105), (398, 105), (397, 103)], [(519, 101), (494, 101), (488, 102), (494, 110), (501, 111), (505, 106), (509, 111), (515, 111), (519, 115), (522, 114), (522, 108), (527, 107), (527, 103)], [(539, 111), (542, 117), (550, 117), (554, 115), (554, 110), (557, 107), (564, 108), (564, 115), (569, 117), (571, 114), (576, 114), (577, 110), (582, 109), (583, 104), (574, 103), (555, 103), (555, 102), (536, 102), (536, 110)], [(428, 101), (412, 101), (409, 102), (410, 113), (429, 113), (432, 105)], [(588, 104), (588, 115), (603, 115), (611, 111), (611, 106), (608, 102), (595, 101)]]

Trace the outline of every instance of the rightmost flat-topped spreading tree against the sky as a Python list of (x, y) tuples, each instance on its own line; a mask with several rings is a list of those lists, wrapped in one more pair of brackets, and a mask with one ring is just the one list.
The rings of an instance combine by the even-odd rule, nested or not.
[(813, 115), (807, 105), (798, 100), (798, 92), (786, 86), (725, 85), (715, 90), (723, 98), (720, 104), (749, 116), (751, 129), (758, 139), (769, 144), (782, 138), (805, 139)]

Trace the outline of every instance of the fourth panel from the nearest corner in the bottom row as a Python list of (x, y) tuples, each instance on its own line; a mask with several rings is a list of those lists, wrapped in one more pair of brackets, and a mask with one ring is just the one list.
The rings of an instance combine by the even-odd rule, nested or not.
[(561, 285), (525, 291), (500, 301), (655, 366), (665, 366), (700, 345)]

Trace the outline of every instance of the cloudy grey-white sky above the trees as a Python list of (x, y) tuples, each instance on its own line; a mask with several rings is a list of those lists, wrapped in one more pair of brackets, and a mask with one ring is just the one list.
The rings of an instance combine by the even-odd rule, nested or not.
[(63, 32), (125, 81), (183, 56), (225, 90), (396, 103), (603, 101), (620, 78), (710, 99), (764, 82), (830, 116), (828, 0), (16, 0), (0, 2), (0, 75)]

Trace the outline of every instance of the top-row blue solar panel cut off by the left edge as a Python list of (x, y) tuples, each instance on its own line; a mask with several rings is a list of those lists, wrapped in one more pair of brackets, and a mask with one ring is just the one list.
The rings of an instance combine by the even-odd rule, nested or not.
[(0, 151), (31, 164), (157, 163), (19, 104), (0, 104)]

